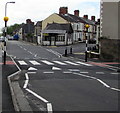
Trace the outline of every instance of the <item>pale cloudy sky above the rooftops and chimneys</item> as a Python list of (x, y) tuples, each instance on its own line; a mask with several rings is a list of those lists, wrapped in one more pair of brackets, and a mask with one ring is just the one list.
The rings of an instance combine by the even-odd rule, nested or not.
[(4, 27), (5, 4), (14, 1), (15, 4), (7, 4), (7, 25), (25, 23), (26, 19), (33, 22), (41, 21), (53, 13), (59, 13), (60, 7), (68, 7), (68, 13), (74, 14), (74, 10), (80, 11), (80, 17), (88, 14), (88, 18), (96, 16), (100, 18), (100, 0), (0, 0), (0, 32)]

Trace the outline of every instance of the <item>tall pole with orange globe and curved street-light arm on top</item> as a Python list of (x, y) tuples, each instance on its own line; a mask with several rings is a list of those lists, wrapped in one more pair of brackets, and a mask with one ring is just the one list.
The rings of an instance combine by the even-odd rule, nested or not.
[(7, 17), (7, 4), (8, 3), (15, 3), (15, 2), (7, 2), (5, 4), (5, 17), (4, 17), (4, 21), (5, 21), (5, 38), (4, 38), (4, 65), (6, 64), (6, 36), (7, 36), (7, 21), (9, 20), (9, 18)]

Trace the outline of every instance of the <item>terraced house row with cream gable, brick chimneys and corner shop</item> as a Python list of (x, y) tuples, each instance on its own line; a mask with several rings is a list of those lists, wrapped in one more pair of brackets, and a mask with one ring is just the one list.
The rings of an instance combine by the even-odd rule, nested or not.
[[(59, 24), (58, 26), (61, 27), (56, 28), (55, 23), (56, 25)], [(60, 7), (59, 14), (54, 13), (42, 21), (41, 44), (69, 45), (79, 41), (84, 41), (86, 39), (85, 24), (90, 25), (90, 28), (88, 29), (88, 38), (96, 38), (97, 32), (99, 32), (97, 29), (98, 24), (96, 23), (95, 16), (92, 16), (90, 20), (88, 19), (88, 15), (80, 17), (79, 10), (75, 10), (73, 15), (68, 13), (68, 7)], [(66, 26), (64, 26), (65, 24)], [(71, 27), (72, 30), (70, 30)]]

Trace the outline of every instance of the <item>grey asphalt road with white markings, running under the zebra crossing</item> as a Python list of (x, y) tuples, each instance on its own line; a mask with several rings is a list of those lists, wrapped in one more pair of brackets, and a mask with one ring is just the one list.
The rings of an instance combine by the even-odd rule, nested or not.
[[(85, 44), (76, 47), (82, 53)], [(21, 71), (26, 70), (19, 84), (33, 110), (118, 111), (119, 73), (63, 57), (65, 48), (7, 43), (8, 54)]]

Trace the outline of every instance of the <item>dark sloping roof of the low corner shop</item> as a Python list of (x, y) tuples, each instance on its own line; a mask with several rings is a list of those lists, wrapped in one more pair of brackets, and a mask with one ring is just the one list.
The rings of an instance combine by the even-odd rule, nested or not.
[(72, 33), (73, 29), (71, 24), (58, 24), (52, 23), (48, 24), (42, 33)]

